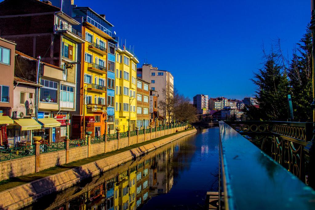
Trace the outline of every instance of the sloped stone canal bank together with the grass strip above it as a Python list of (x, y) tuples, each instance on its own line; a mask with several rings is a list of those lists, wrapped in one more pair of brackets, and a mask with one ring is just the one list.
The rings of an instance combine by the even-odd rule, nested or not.
[[(2, 182), (0, 185), (2, 190), (10, 189), (0, 193), (3, 198), (0, 201), (0, 207), (15, 209), (26, 206), (42, 196), (64, 190), (83, 179), (103, 173), (110, 168), (117, 167), (124, 162), (195, 132), (196, 129), (190, 128), (185, 131), (172, 133), (157, 139), (115, 150), (111, 153), (49, 168), (40, 173), (13, 178), (8, 180), (7, 183)], [(30, 181), (32, 182), (28, 183)], [(11, 188), (12, 186), (13, 188)]]

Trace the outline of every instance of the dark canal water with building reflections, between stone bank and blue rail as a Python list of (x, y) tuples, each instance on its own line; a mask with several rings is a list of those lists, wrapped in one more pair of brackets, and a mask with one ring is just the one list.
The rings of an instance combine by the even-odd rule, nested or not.
[(204, 209), (218, 190), (219, 128), (197, 130), (24, 209)]

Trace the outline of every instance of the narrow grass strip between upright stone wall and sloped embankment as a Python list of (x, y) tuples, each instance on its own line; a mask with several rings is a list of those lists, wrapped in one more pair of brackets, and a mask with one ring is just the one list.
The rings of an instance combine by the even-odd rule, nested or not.
[(184, 133), (184, 132), (190, 131), (192, 129), (193, 128), (188, 128), (187, 130), (184, 130), (184, 131), (181, 131), (181, 132), (178, 132), (178, 133), (172, 133), (172, 134), (169, 134), (169, 135), (165, 135), (163, 137), (159, 137), (157, 139), (152, 139), (152, 140), (149, 140), (149, 141), (145, 141), (145, 142), (141, 142), (141, 143), (138, 143), (138, 144), (130, 145), (128, 147), (124, 147), (124, 148), (119, 149), (119, 150), (102, 153), (100, 155), (88, 157), (88, 158), (85, 158), (85, 159), (82, 159), (82, 160), (78, 160), (78, 161), (75, 161), (75, 162), (71, 162), (71, 163), (67, 163), (67, 164), (64, 164), (64, 165), (61, 165), (61, 166), (51, 167), (51, 168), (45, 169), (45, 170), (37, 172), (37, 173), (31, 173), (31, 174), (27, 174), (25, 176), (20, 176), (20, 177), (14, 177), (14, 178), (11, 178), (11, 179), (7, 179), (7, 180), (4, 180), (4, 181), (0, 182), (0, 192), (4, 191), (4, 190), (8, 190), (8, 189), (16, 187), (16, 186), (19, 186), (19, 185), (22, 185), (22, 184), (26, 184), (26, 183), (35, 181), (37, 179), (42, 179), (44, 177), (47, 177), (47, 176), (50, 176), (50, 175), (53, 175), (53, 174), (57, 174), (57, 173), (60, 173), (60, 172), (63, 172), (63, 171), (66, 171), (66, 170), (71, 169), (71, 168), (82, 166), (84, 164), (87, 164), (87, 163), (90, 163), (90, 162), (94, 162), (94, 161), (103, 159), (105, 157), (117, 155), (119, 153), (131, 150), (131, 149), (143, 146), (143, 145), (147, 145), (147, 144), (150, 144), (152, 142), (155, 142), (155, 141), (158, 141), (158, 140), (161, 140), (161, 139), (165, 139), (165, 138), (168, 138), (170, 136), (173, 136), (173, 135), (176, 135), (176, 134), (179, 134), (179, 133)]

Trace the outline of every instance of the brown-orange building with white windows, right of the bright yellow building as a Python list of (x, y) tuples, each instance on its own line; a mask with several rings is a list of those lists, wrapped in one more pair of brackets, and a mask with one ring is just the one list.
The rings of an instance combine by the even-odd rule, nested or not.
[(150, 82), (137, 77), (137, 127), (140, 129), (149, 126), (149, 91)]

